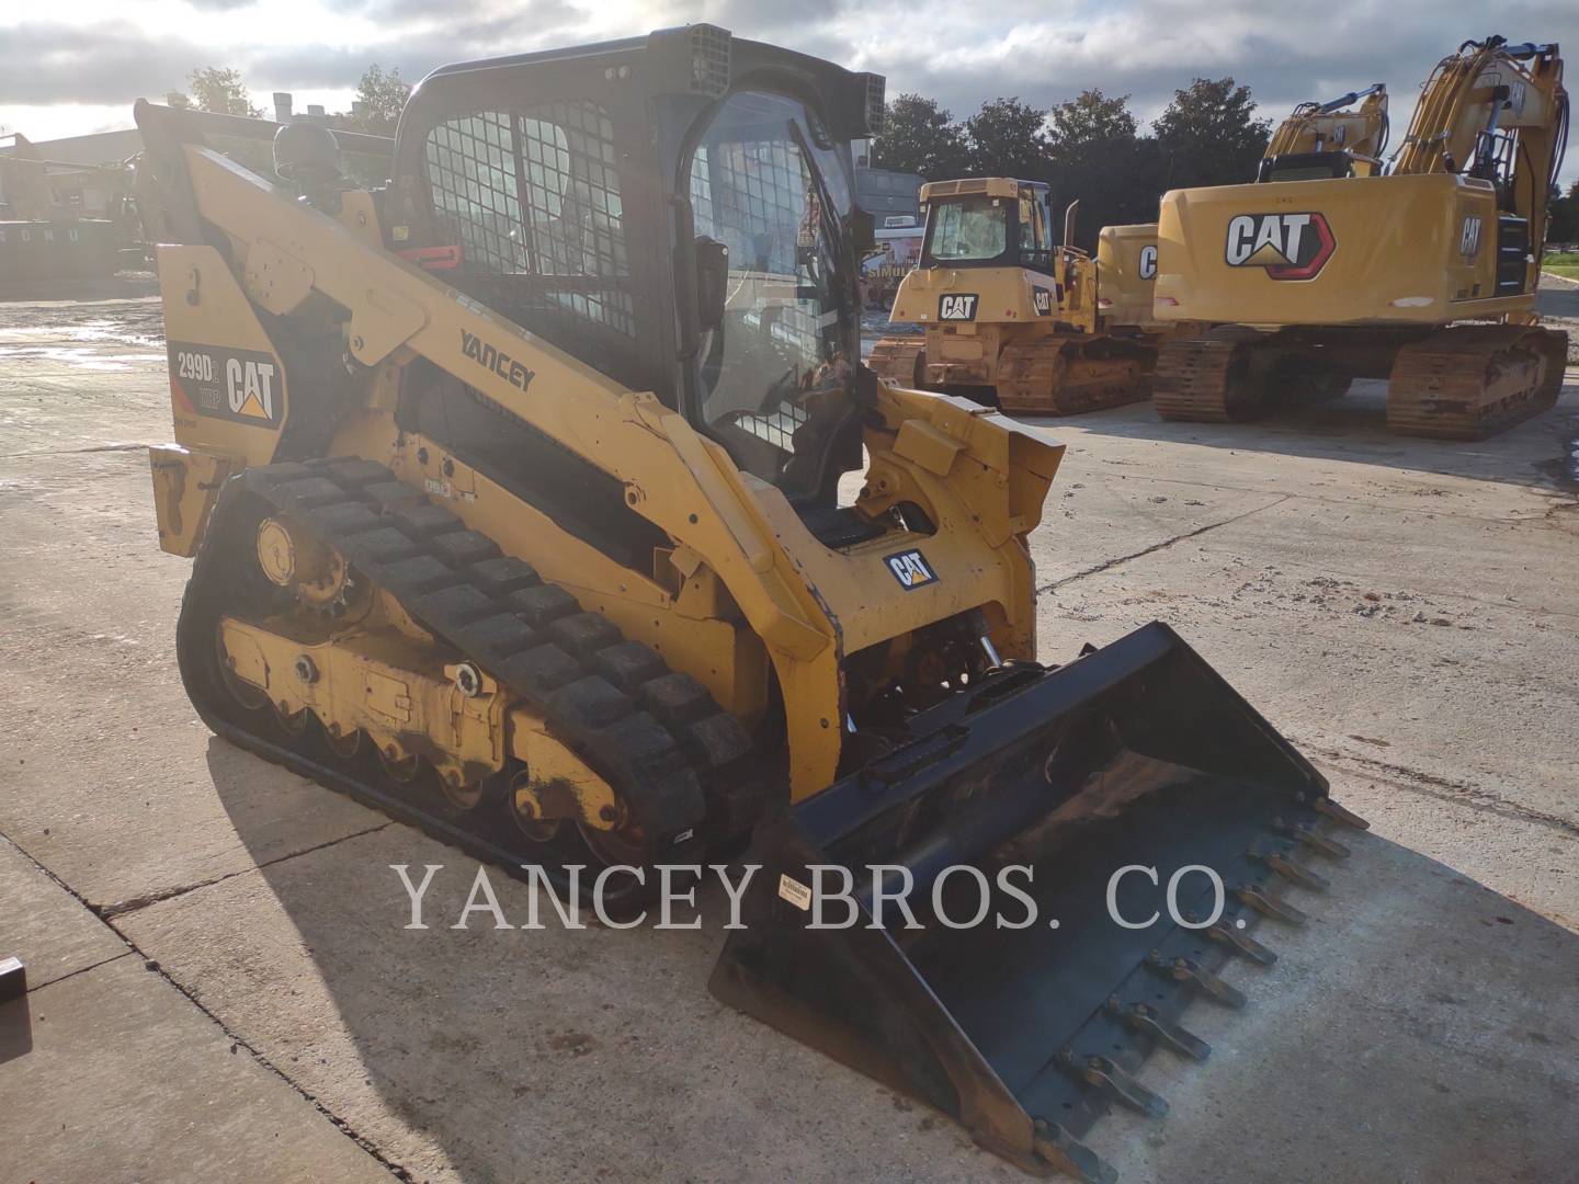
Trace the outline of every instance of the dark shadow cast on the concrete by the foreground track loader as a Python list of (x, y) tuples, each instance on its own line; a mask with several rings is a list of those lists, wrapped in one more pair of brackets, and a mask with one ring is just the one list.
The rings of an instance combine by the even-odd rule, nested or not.
[[(215, 740), (210, 769), (251, 846), (262, 841), (245, 805), (256, 770), (243, 789), (229, 755)], [(1573, 1178), (1579, 936), (1407, 848), (1350, 841), (1353, 857), (1328, 868), (1330, 892), (1293, 894), (1309, 927), (1255, 928), (1281, 961), (1230, 968), (1249, 1009), (1189, 1012), (1211, 1061), (1148, 1061), (1142, 1078), (1172, 1115), (1115, 1113), (1093, 1132), (1123, 1179)], [(409, 905), (392, 862), (414, 875), (445, 865), (429, 890), (431, 928), (403, 928)], [(458, 931), (447, 927), (475, 865), (403, 826), (261, 875), (295, 933), (281, 931), (267, 898), (253, 908), (273, 917), (268, 931), (248, 933), (251, 914), (210, 917), (227, 942), (259, 942), (210, 972), (227, 979), (245, 958), (300, 984), (298, 955), (279, 944), (300, 942), (338, 1017), (300, 1029), (300, 1004), (276, 984), (278, 1002), (246, 1004), (261, 1031), (240, 1034), (332, 1111), (354, 1105), (336, 1096), (346, 1081), (365, 1080), (466, 1179), (1023, 1179), (924, 1107), (715, 1004), (706, 979), (722, 944), (720, 892), (703, 901), (701, 931), (505, 933), (482, 914)], [(529, 892), (502, 873), (491, 882), (523, 924)], [(227, 1018), (235, 984), (196, 985)], [(352, 1069), (314, 1077), (316, 1058), (344, 1053)], [(360, 1133), (401, 1160), (390, 1140)]]

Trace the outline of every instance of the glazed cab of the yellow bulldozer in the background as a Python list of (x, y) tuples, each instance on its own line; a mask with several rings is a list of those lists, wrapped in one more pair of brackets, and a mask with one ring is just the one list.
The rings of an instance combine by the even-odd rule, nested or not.
[(1048, 189), (1004, 177), (921, 186), (922, 267), (1023, 267), (1053, 272)]

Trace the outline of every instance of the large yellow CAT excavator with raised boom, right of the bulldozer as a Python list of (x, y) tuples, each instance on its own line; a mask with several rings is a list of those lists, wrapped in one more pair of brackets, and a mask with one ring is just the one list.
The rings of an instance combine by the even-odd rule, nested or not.
[(1483, 439), (1551, 407), (1566, 335), (1533, 309), (1562, 76), (1555, 44), (1465, 41), (1385, 169), (1372, 87), (1358, 112), (1295, 112), (1257, 183), (1165, 194), (1156, 314), (1211, 328), (1164, 344), (1157, 414), (1251, 420), (1355, 377), (1386, 379), (1388, 426), (1413, 436)]

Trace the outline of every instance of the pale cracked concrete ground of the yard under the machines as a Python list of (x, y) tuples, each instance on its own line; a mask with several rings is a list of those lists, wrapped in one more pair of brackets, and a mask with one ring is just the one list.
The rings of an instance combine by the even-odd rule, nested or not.
[[(720, 935), (448, 928), (475, 865), (215, 740), (142, 445), (153, 302), (0, 306), (0, 1179), (1020, 1179), (706, 993)], [(1579, 1163), (1579, 376), (1484, 444), (1063, 420), (1044, 658), (1180, 630), (1369, 816), (1303, 931), (1153, 1058), (1126, 1181)], [(406, 930), (390, 864), (442, 864)], [(527, 892), (494, 876), (515, 922)], [(714, 901), (715, 905), (717, 901)], [(709, 905), (712, 909), (712, 905)]]

